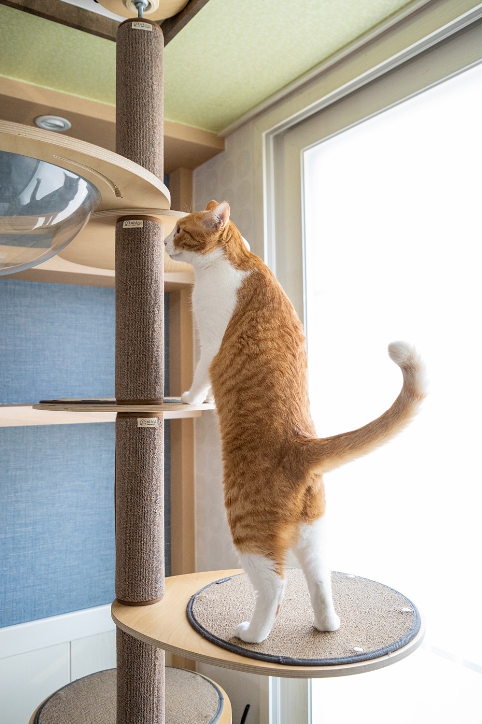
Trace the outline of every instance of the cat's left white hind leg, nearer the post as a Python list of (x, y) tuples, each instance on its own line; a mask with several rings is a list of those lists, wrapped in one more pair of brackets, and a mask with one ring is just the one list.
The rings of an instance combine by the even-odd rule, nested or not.
[(275, 561), (264, 555), (244, 553), (240, 561), (256, 592), (256, 604), (251, 621), (238, 623), (234, 634), (242, 641), (259, 644), (275, 623), (285, 595), (286, 579), (276, 572)]

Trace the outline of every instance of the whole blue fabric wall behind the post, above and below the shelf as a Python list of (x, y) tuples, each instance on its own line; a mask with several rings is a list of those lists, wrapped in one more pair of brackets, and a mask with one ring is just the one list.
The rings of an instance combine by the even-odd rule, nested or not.
[[(114, 328), (112, 289), (0, 279), (0, 403), (113, 397)], [(167, 328), (165, 347), (168, 390)], [(113, 424), (0, 428), (0, 626), (112, 601), (114, 438)], [(170, 510), (166, 423), (166, 573)]]

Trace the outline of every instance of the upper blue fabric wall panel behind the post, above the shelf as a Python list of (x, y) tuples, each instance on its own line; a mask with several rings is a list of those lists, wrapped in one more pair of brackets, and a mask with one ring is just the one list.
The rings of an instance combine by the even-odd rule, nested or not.
[(114, 350), (115, 290), (0, 279), (0, 403), (113, 397)]

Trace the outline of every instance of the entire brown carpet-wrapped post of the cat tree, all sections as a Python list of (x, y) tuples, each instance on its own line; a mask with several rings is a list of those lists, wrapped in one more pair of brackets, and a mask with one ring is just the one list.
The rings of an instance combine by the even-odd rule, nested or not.
[[(163, 179), (163, 34), (128, 20), (117, 34), (116, 152)], [(163, 399), (163, 227), (116, 224), (116, 400)], [(144, 420), (144, 421), (142, 421)], [(132, 605), (164, 592), (163, 418), (116, 420), (116, 596)], [(164, 724), (164, 653), (117, 633), (117, 724)]]

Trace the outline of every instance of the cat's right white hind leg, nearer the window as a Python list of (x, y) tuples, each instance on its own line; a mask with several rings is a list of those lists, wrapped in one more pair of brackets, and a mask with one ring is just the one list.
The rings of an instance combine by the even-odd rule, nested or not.
[(293, 552), (303, 568), (308, 583), (314, 611), (314, 625), (319, 631), (336, 631), (340, 628), (340, 618), (333, 605), (324, 515), (314, 523), (300, 523)]

